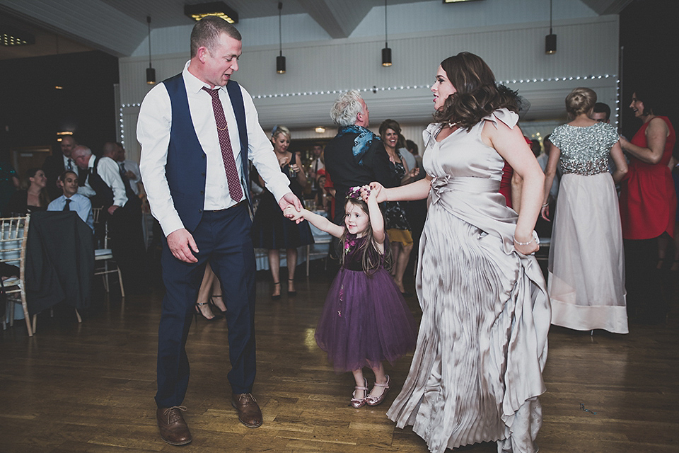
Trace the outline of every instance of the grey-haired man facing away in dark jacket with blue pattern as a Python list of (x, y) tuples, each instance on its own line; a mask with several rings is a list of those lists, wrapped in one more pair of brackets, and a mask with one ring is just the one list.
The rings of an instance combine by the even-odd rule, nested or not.
[(342, 224), (349, 188), (373, 181), (390, 188), (399, 181), (382, 140), (366, 129), (370, 125), (370, 112), (358, 91), (340, 94), (332, 105), (330, 117), (340, 130), (325, 146), (325, 171), (330, 173), (337, 191), (333, 221)]

